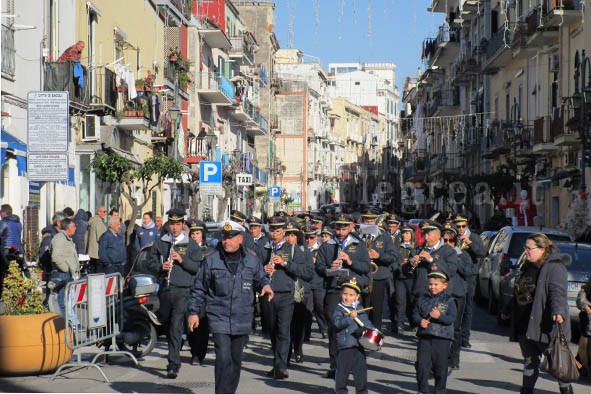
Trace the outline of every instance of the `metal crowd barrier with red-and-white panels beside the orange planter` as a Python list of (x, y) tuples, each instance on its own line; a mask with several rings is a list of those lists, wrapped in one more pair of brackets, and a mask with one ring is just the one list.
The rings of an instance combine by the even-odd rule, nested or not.
[[(70, 282), (65, 289), (66, 345), (72, 350), (75, 360), (70, 361), (53, 374), (55, 379), (66, 369), (94, 367), (101, 373), (105, 382), (109, 379), (97, 364), (100, 357), (108, 355), (127, 356), (138, 365), (133, 354), (117, 350), (116, 338), (123, 325), (123, 277), (119, 273), (91, 274), (84, 279)], [(101, 345), (104, 349), (91, 361), (83, 361), (85, 347)], [(114, 350), (110, 350), (114, 349)]]

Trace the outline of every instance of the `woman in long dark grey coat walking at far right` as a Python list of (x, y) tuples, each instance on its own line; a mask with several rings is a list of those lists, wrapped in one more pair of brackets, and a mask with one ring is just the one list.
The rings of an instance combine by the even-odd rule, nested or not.
[[(558, 329), (570, 340), (566, 262), (547, 236), (532, 234), (525, 242), (527, 262), (515, 281), (511, 336), (523, 355), (522, 394), (533, 394), (544, 351)], [(572, 393), (569, 383), (558, 381), (561, 394)]]

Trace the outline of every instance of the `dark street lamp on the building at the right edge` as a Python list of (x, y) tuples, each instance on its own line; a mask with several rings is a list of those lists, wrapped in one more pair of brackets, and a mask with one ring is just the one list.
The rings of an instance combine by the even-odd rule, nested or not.
[[(579, 79), (580, 77), (580, 79)], [(585, 153), (591, 146), (591, 136), (587, 123), (587, 112), (591, 109), (591, 61), (585, 54), (585, 50), (575, 52), (575, 91), (570, 97), (571, 106), (575, 116), (579, 115), (579, 136), (581, 137), (581, 193), (587, 188), (585, 184)], [(580, 86), (579, 86), (580, 82)], [(586, 84), (586, 85), (585, 85)]]

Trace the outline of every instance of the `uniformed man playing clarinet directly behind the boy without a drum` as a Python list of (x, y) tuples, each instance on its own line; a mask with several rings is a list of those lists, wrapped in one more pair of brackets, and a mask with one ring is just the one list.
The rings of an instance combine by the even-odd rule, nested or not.
[(415, 249), (406, 267), (414, 275), (415, 300), (427, 292), (427, 275), (430, 272), (444, 271), (451, 280), (458, 269), (458, 254), (441, 239), (441, 225), (434, 220), (425, 220), (421, 224), (421, 231), (425, 245)]

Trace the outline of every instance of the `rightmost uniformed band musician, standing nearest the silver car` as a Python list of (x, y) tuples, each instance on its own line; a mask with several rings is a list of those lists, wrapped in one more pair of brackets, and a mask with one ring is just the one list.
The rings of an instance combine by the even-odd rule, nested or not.
[[(479, 257), (486, 255), (486, 248), (482, 239), (478, 234), (470, 231), (468, 228), (468, 219), (457, 215), (453, 219), (453, 223), (458, 228), (458, 247), (467, 252), (472, 259), (473, 264), (478, 263)], [(470, 330), (472, 329), (472, 314), (474, 310), (474, 293), (476, 291), (476, 275), (471, 275), (466, 278), (466, 304), (464, 305), (464, 313), (462, 316), (462, 347), (471, 348), (470, 344)]]

